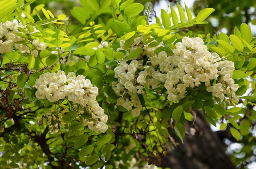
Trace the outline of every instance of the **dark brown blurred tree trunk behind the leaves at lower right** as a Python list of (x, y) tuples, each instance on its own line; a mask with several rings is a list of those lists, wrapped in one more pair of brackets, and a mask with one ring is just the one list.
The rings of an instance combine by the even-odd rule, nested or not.
[(185, 122), (186, 135), (184, 144), (176, 137), (173, 128), (169, 128), (170, 135), (179, 145), (168, 148), (166, 158), (160, 167), (171, 169), (235, 169), (230, 157), (225, 154), (223, 141), (216, 132), (212, 132), (202, 112), (192, 110), (196, 114), (193, 128), (194, 136), (190, 133), (191, 122)]

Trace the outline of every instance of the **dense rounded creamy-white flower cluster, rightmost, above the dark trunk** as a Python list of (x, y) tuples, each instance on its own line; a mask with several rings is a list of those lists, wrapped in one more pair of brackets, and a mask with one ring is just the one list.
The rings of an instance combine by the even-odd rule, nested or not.
[[(230, 100), (238, 99), (235, 92), (239, 85), (232, 79), (234, 62), (225, 57), (220, 58), (217, 53), (210, 53), (201, 38), (183, 37), (182, 42), (176, 43), (173, 52), (175, 55), (171, 65), (177, 67), (167, 73), (165, 86), (168, 86), (168, 99), (177, 100), (185, 94), (181, 88), (198, 86), (201, 82), (206, 84), (208, 92), (222, 101), (226, 101), (226, 97)], [(210, 80), (216, 80), (217, 84), (212, 86)], [(178, 86), (178, 82), (182, 86)]]

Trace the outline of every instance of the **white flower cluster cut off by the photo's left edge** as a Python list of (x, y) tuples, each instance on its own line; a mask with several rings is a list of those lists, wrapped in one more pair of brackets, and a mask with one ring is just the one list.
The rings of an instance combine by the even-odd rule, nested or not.
[[(36, 48), (39, 50), (45, 50), (46, 49), (46, 43), (41, 42), (39, 43), (39, 39), (33, 40), (31, 43), (34, 46), (33, 49), (30, 49), (28, 45), (23, 44), (23, 43), (16, 43), (18, 41), (25, 41), (26, 39), (18, 36), (17, 33), (25, 35), (24, 32), (19, 31), (18, 27), (23, 28), (23, 25), (20, 23), (16, 22), (10, 22), (6, 21), (5, 23), (0, 23), (0, 53), (4, 52), (10, 52), (12, 51), (13, 47), (15, 46), (16, 49), (19, 50), (20, 53), (31, 53), (32, 56), (37, 56), (38, 51)], [(27, 29), (25, 29), (28, 31)], [(29, 32), (27, 34), (32, 34), (35, 32), (39, 32), (36, 28), (34, 28), (33, 32)], [(32, 50), (32, 51), (31, 51)]]

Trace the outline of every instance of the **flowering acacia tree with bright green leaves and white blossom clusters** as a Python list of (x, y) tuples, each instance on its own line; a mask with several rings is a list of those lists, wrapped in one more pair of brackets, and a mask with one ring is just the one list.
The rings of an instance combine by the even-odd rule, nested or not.
[(175, 135), (181, 144), (185, 133), (204, 137), (194, 109), (237, 141), (250, 133), (247, 24), (217, 37), (186, 29), (207, 24), (212, 8), (192, 18), (177, 4), (179, 14), (170, 6), (150, 24), (150, 6), (134, 0), (80, 0), (75, 25), (44, 4), (32, 11), (33, 1), (0, 1), (0, 168), (159, 166)]

